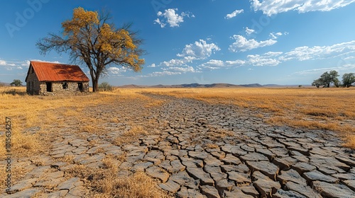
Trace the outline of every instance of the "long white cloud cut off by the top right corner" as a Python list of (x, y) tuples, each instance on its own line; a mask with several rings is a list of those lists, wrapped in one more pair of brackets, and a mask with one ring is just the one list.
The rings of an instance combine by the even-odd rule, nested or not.
[(354, 2), (355, 0), (251, 0), (251, 7), (254, 11), (263, 11), (267, 16), (272, 16), (287, 11), (298, 11), (298, 13), (332, 11), (333, 9), (342, 8)]

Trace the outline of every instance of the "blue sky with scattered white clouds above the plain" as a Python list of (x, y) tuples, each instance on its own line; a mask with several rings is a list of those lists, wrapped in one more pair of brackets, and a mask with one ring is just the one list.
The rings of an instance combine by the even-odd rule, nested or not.
[[(16, 0), (1, 1), (0, 82), (24, 82), (35, 43), (60, 33), (74, 8), (109, 11), (145, 40), (146, 64), (120, 66), (101, 78), (112, 85), (277, 83), (310, 85), (325, 71), (355, 72), (355, 0)], [(87, 68), (81, 65), (87, 72)], [(89, 75), (88, 75), (89, 76)]]

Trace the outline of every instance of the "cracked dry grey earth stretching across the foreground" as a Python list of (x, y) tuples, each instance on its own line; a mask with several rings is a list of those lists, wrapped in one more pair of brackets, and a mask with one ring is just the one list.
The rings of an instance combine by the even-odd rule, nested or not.
[[(146, 94), (164, 100), (156, 107), (116, 103), (88, 113), (103, 120), (102, 135), (61, 128), (44, 163), (19, 158), (27, 173), (0, 197), (90, 197), (87, 178), (65, 177), (75, 163), (102, 168), (107, 155), (126, 158), (117, 177), (136, 171), (159, 180), (173, 197), (355, 197), (355, 153), (343, 148), (332, 132), (273, 127), (253, 112), (233, 105)], [(105, 119), (118, 117), (116, 124)], [(114, 139), (130, 129), (128, 122), (155, 132), (130, 144)], [(149, 130), (153, 129), (147, 129)], [(94, 144), (92, 144), (94, 142)], [(60, 161), (73, 156), (72, 163)]]

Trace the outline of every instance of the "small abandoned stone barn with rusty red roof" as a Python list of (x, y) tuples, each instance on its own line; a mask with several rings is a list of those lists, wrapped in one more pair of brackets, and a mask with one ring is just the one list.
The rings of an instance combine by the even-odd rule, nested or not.
[(25, 81), (31, 95), (89, 91), (89, 78), (77, 65), (31, 61)]

